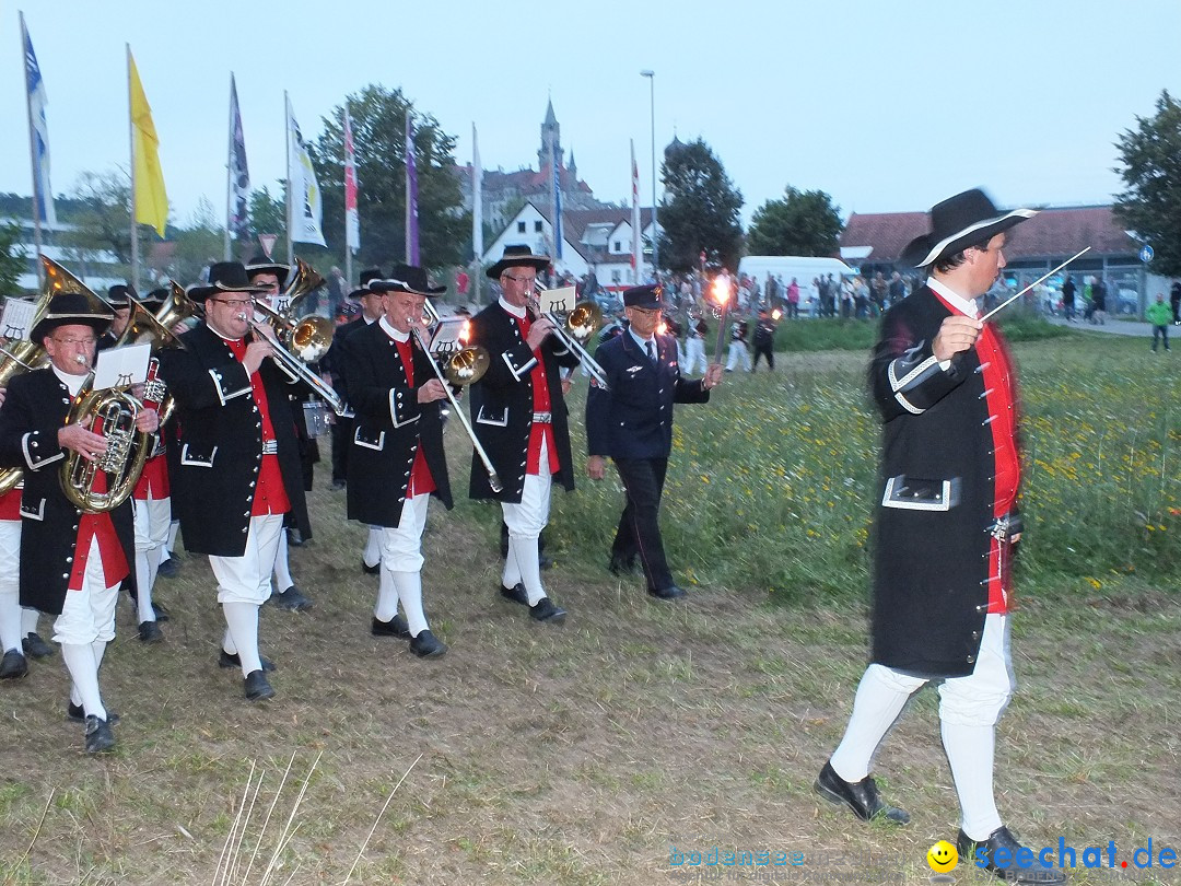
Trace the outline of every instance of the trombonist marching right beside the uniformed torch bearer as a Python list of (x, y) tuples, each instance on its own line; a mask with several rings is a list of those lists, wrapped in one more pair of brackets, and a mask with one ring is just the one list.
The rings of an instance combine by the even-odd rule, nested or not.
[(472, 458), (471, 497), (498, 500), (509, 527), (501, 595), (528, 606), (539, 621), (560, 624), (566, 611), (541, 585), (537, 536), (549, 521), (553, 478), (574, 489), (560, 369), (578, 366), (580, 359), (552, 334), (553, 323), (529, 310), (537, 274), (547, 267), (548, 255), (507, 246), (488, 269), (503, 294), (471, 321), (471, 344), (489, 354), (488, 372), (471, 386), (471, 417), (503, 489), (497, 491), (488, 470)]

